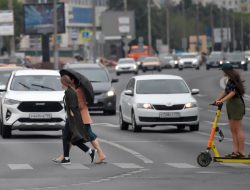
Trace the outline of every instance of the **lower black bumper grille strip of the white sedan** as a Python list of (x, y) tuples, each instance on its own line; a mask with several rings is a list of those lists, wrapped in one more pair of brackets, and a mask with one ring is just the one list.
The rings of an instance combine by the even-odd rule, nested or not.
[(180, 117), (180, 118), (159, 118), (159, 117), (139, 117), (141, 122), (189, 122), (197, 121), (197, 116)]

